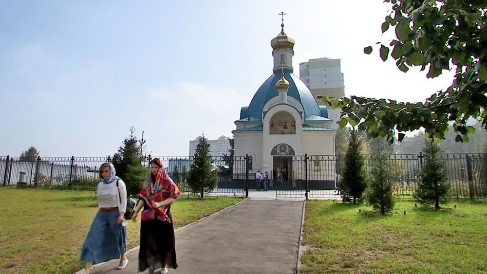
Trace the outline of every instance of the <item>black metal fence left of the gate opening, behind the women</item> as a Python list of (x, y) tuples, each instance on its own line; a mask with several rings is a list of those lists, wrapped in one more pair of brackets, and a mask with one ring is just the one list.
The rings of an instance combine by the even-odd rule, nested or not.
[[(155, 157), (153, 157), (155, 158)], [(163, 162), (166, 171), (178, 184), (183, 193), (189, 193), (187, 183), (188, 171), (193, 164), (193, 157), (157, 157)], [(149, 166), (149, 158), (143, 163)], [(218, 182), (215, 189), (204, 190), (205, 195), (214, 196), (248, 196), (246, 185), (245, 156), (235, 156), (233, 161), (223, 157), (213, 157), (213, 166), (217, 170)], [(0, 183), (3, 186), (17, 186), (20, 176), (26, 176), (27, 186), (58, 189), (95, 190), (100, 182), (98, 168), (110, 162), (107, 157), (57, 157), (20, 159), (0, 157)], [(234, 172), (234, 170), (239, 172)]]

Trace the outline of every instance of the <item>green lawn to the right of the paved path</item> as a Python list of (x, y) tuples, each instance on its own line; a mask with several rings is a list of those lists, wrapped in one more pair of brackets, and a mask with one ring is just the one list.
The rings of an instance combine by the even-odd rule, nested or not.
[(397, 201), (389, 216), (380, 216), (364, 205), (307, 201), (300, 270), (487, 273), (486, 221), (483, 202), (452, 201), (435, 212)]

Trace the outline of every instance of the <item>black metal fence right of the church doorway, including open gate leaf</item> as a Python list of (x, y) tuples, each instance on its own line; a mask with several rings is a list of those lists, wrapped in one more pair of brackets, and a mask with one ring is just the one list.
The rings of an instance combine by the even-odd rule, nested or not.
[[(487, 197), (487, 154), (442, 154), (441, 159), (447, 166), (450, 197)], [(373, 160), (367, 157), (364, 161), (370, 174)], [(412, 198), (424, 161), (421, 153), (388, 156), (387, 169), (395, 197)], [(276, 176), (273, 171), (271, 189), (276, 190), (276, 198), (335, 198), (344, 162), (342, 155), (292, 156), (286, 175), (277, 172)]]

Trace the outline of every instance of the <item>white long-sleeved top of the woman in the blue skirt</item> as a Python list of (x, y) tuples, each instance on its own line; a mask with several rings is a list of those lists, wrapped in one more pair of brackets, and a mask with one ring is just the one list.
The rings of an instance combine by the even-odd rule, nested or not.
[[(112, 183), (98, 183), (96, 189), (96, 197), (98, 198), (98, 208), (102, 207), (118, 207), (118, 212), (121, 214), (127, 210), (127, 188), (125, 183), (119, 179), (118, 189), (117, 180)], [(119, 194), (120, 193), (120, 198)], [(122, 202), (120, 202), (122, 200)], [(127, 222), (123, 219), (122, 226), (126, 226)]]

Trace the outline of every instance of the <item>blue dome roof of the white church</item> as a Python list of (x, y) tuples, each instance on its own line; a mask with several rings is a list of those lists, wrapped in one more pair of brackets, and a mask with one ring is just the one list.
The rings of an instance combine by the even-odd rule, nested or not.
[[(287, 96), (291, 96), (301, 103), (304, 109), (305, 118), (311, 115), (328, 118), (326, 109), (324, 111), (322, 109), (320, 110), (315, 97), (298, 76), (294, 75), (290, 70), (284, 70), (284, 77), (289, 81)], [(241, 109), (240, 119), (252, 117), (252, 120), (260, 120), (264, 105), (269, 99), (278, 96), (276, 82), (279, 81), (279, 79), (281, 79), (281, 71), (276, 70), (274, 74), (265, 80), (259, 90), (257, 90), (252, 101), (250, 101), (250, 105)]]

